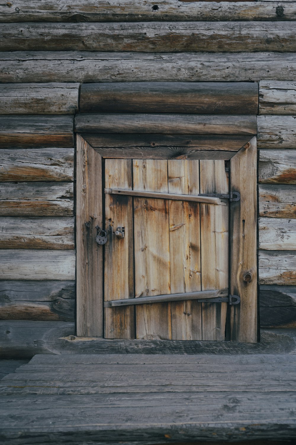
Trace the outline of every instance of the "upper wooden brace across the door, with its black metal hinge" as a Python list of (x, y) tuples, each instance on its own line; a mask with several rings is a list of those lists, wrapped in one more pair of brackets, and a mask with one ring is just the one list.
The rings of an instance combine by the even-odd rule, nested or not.
[(158, 199), (173, 199), (176, 201), (194, 201), (204, 202), (205, 204), (216, 204), (227, 206), (228, 201), (239, 201), (239, 192), (230, 193), (200, 193), (198, 195), (185, 195), (177, 193), (160, 193), (148, 192), (144, 190), (124, 190), (124, 189), (108, 189), (105, 188), (106, 194), (122, 194), (128, 196), (139, 196), (140, 198), (158, 198)]

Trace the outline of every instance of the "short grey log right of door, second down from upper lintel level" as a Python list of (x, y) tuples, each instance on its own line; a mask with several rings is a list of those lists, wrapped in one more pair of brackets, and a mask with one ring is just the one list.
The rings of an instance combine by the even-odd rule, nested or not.
[(295, 148), (296, 116), (258, 116), (258, 148)]

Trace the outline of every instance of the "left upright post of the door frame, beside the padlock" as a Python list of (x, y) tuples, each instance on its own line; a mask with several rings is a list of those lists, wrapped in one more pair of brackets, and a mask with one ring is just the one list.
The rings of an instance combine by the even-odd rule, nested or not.
[(77, 336), (103, 336), (103, 248), (96, 243), (102, 226), (101, 156), (77, 135), (76, 280)]

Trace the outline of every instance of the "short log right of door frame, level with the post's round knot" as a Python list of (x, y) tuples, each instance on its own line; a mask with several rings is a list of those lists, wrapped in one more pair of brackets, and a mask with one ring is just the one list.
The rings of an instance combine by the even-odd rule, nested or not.
[(296, 285), (296, 251), (259, 251), (259, 284)]

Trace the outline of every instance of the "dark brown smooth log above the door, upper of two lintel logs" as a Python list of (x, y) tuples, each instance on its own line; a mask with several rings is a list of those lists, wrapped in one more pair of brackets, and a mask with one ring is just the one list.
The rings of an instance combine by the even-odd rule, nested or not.
[(252, 82), (118, 82), (81, 85), (81, 113), (257, 114)]

